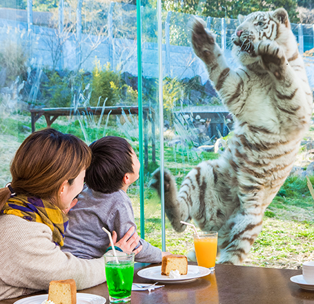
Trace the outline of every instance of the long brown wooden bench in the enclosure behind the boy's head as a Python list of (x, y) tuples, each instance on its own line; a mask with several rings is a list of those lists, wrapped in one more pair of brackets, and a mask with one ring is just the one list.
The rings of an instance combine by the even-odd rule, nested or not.
[[(36, 122), (43, 115), (46, 118), (47, 127), (50, 128), (53, 122), (59, 116), (72, 115), (121, 115), (122, 112), (126, 115), (139, 114), (138, 106), (106, 106), (105, 108), (87, 107), (87, 108), (32, 108), (30, 117), (32, 123), (32, 132), (36, 130)], [(143, 106), (144, 118), (144, 164), (148, 166), (148, 120), (152, 125), (152, 161), (156, 162), (156, 137), (155, 137), (155, 111), (150, 106)]]

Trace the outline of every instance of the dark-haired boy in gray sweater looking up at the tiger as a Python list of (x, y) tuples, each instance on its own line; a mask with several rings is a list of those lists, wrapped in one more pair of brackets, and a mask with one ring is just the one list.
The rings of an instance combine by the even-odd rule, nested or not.
[[(69, 225), (62, 247), (79, 258), (100, 258), (110, 246), (101, 229), (123, 237), (135, 227), (132, 203), (126, 191), (139, 178), (139, 160), (130, 144), (121, 137), (106, 136), (90, 144), (92, 162), (86, 169), (86, 186), (77, 205), (68, 213)], [(164, 254), (140, 239), (143, 246), (135, 256), (137, 262), (161, 263)]]

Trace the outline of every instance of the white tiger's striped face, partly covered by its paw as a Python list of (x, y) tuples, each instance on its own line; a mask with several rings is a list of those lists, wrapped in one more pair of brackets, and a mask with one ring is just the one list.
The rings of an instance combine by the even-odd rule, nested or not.
[(233, 53), (242, 64), (253, 64), (258, 60), (255, 47), (259, 41), (266, 39), (277, 41), (283, 38), (282, 35), (288, 39), (290, 37), (287, 35), (288, 32), (291, 32), (291, 27), (288, 13), (284, 8), (273, 12), (253, 12), (243, 19), (231, 37)]

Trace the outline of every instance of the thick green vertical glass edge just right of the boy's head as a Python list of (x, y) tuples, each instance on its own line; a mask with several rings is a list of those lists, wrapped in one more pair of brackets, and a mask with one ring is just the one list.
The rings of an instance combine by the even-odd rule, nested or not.
[(143, 103), (141, 99), (141, 0), (137, 0), (137, 89), (139, 102), (139, 206), (141, 222), (141, 238), (145, 238), (145, 214), (144, 214), (144, 153), (143, 153)]

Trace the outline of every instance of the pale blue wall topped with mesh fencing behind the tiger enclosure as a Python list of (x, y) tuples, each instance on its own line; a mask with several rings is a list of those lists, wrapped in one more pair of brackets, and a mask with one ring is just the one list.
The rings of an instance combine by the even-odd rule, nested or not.
[[(42, 58), (52, 69), (92, 70), (95, 57), (112, 69), (137, 74), (137, 8), (126, 3), (100, 0), (3, 0), (0, 4), (0, 37), (5, 45), (11, 37), (6, 28), (19, 28), (21, 46), (29, 58)], [(200, 17), (216, 35), (217, 44), (230, 50), (237, 19)], [(193, 15), (163, 11), (163, 68), (170, 77), (194, 77), (206, 72), (197, 64), (190, 48), (189, 24)], [(141, 41), (146, 77), (157, 73), (157, 9), (141, 8)], [(312, 25), (291, 24), (300, 53), (314, 48)], [(23, 40), (23, 41), (21, 41)], [(24, 47), (23, 47), (24, 48)], [(311, 53), (308, 53), (311, 55)], [(127, 62), (128, 61), (128, 62)]]

